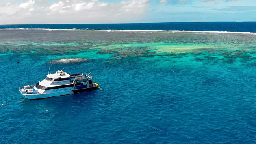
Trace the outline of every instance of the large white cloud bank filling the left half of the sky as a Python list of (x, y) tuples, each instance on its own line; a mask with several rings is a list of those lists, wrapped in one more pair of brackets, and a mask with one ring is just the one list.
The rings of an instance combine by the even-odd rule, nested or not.
[(0, 24), (136, 22), (149, 0), (27, 0), (0, 5)]

